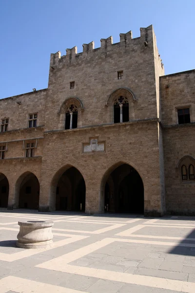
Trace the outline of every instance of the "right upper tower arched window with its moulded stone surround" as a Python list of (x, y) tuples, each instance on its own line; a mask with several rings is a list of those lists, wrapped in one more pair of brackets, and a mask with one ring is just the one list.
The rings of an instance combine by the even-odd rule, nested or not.
[(136, 96), (130, 88), (120, 87), (108, 97), (105, 106), (108, 106), (110, 123), (122, 123), (135, 119), (134, 103)]

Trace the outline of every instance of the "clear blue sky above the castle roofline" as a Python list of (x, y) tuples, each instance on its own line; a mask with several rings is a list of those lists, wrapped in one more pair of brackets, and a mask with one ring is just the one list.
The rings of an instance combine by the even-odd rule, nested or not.
[(47, 87), (50, 53), (154, 25), (165, 74), (195, 68), (195, 0), (0, 0), (0, 99)]

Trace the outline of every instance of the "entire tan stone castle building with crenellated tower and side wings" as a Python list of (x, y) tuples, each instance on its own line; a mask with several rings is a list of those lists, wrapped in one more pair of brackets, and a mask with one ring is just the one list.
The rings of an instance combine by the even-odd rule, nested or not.
[(0, 119), (2, 208), (195, 214), (195, 70), (164, 75), (152, 25), (51, 54)]

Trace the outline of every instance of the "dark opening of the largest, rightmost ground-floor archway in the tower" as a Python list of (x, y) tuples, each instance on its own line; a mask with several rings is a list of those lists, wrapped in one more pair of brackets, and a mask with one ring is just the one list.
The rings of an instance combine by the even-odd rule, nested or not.
[(121, 164), (107, 174), (104, 186), (104, 211), (144, 213), (144, 188), (137, 170)]

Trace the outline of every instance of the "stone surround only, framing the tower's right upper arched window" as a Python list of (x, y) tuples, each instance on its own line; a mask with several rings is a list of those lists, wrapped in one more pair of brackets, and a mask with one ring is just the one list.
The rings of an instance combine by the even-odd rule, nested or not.
[(134, 103), (137, 101), (137, 97), (133, 93), (133, 91), (128, 87), (120, 87), (114, 90), (108, 97), (107, 102), (105, 106), (108, 106), (108, 112), (109, 112), (109, 120), (110, 123), (114, 123), (114, 101), (120, 97), (123, 96), (125, 99), (128, 100), (129, 103), (129, 121), (135, 119), (134, 114)]

